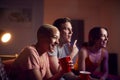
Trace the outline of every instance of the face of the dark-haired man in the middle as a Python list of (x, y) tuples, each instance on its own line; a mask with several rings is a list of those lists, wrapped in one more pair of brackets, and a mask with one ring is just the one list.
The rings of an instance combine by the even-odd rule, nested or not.
[(71, 42), (71, 37), (72, 37), (72, 25), (70, 22), (66, 22), (62, 24), (62, 28), (60, 30), (60, 40), (62, 43), (69, 43)]

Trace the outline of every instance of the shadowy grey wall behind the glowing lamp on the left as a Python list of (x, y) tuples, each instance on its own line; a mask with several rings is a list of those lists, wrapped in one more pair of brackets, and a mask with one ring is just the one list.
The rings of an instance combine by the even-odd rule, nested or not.
[[(36, 42), (36, 30), (43, 23), (43, 0), (0, 0), (0, 10), (1, 15), (3, 12), (3, 15), (7, 15), (0, 15), (0, 29), (12, 33), (10, 43), (0, 45), (0, 54), (18, 53), (24, 46)], [(26, 16), (21, 14), (22, 10), (23, 14), (28, 12), (27, 18), (30, 17), (30, 21), (24, 20)], [(11, 11), (18, 12), (17, 19), (8, 16)]]

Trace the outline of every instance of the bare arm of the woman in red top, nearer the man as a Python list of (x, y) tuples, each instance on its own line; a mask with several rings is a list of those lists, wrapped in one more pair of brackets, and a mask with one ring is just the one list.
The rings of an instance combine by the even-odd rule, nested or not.
[(85, 70), (85, 59), (87, 57), (87, 51), (84, 48), (81, 48), (78, 53), (78, 70), (84, 71)]

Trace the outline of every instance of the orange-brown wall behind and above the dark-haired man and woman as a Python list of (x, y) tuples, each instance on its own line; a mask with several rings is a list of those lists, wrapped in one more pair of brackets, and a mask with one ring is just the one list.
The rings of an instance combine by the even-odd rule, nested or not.
[[(108, 50), (118, 54), (120, 61), (120, 1), (119, 0), (44, 0), (44, 23), (52, 23), (58, 17), (84, 20), (84, 40), (94, 25), (109, 29)], [(120, 63), (118, 63), (120, 74)]]

